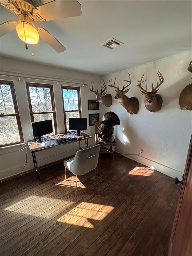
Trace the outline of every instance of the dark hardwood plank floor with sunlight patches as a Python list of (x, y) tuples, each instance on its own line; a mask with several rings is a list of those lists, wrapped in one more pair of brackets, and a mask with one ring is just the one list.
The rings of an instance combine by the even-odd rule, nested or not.
[(64, 180), (63, 163), (0, 184), (0, 253), (167, 255), (180, 184), (115, 153)]

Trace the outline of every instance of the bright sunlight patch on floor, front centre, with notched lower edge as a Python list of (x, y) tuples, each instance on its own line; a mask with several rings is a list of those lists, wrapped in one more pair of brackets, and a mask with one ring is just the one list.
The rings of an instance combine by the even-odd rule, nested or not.
[(69, 213), (61, 216), (57, 221), (77, 225), (85, 228), (94, 228), (92, 220), (102, 221), (112, 210), (113, 206), (87, 203), (82, 207), (82, 203), (74, 207)]

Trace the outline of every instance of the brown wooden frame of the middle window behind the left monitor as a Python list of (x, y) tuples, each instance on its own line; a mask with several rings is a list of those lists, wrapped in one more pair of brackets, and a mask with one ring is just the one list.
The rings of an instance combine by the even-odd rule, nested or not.
[[(55, 113), (53, 85), (52, 84), (39, 84), (39, 83), (26, 83), (26, 87), (27, 87), (27, 98), (28, 98), (28, 103), (29, 103), (31, 122), (34, 122), (34, 116), (33, 115), (53, 114), (53, 123), (54, 123), (54, 128), (55, 128), (55, 134), (57, 134), (57, 121), (56, 121), (56, 113)], [(40, 87), (40, 88), (49, 88), (50, 89), (52, 111), (33, 112), (32, 105), (31, 105), (31, 97), (30, 97), (29, 87)]]

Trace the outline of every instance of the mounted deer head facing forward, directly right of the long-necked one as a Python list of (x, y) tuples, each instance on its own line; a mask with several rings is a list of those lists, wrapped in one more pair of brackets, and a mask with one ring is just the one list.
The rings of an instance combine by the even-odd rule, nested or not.
[(137, 81), (137, 82), (139, 82), (137, 87), (139, 87), (141, 89), (141, 93), (145, 96), (145, 100), (144, 100), (145, 107), (150, 112), (157, 112), (157, 111), (159, 111), (161, 109), (162, 103), (163, 103), (163, 100), (162, 100), (161, 96), (159, 94), (157, 94), (157, 92), (159, 90), (158, 87), (164, 82), (164, 78), (163, 78), (162, 74), (160, 72), (159, 73), (158, 72), (157, 72), (157, 75), (159, 77), (159, 83), (157, 81), (157, 85), (156, 85), (155, 88), (153, 88), (153, 83), (151, 83), (151, 89), (152, 89), (151, 92), (147, 91), (147, 84), (146, 84), (146, 89), (141, 87), (141, 84), (146, 81), (146, 79), (143, 79), (143, 77), (144, 77), (144, 75), (146, 73), (144, 73), (142, 75), (140, 81)]

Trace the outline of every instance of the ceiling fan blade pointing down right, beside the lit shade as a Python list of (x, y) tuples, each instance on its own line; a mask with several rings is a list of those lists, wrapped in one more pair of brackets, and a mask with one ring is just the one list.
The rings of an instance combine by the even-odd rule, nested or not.
[(39, 36), (47, 42), (56, 52), (64, 52), (66, 50), (54, 36), (52, 36), (46, 29), (42, 27), (37, 27)]

